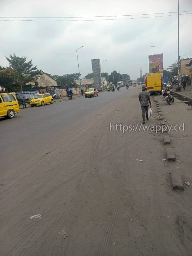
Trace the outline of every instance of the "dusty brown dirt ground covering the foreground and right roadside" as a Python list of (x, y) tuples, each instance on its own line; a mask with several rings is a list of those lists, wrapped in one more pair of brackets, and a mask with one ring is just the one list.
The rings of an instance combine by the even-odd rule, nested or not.
[[(191, 130), (172, 134), (181, 162), (162, 162), (161, 134), (109, 131), (110, 123), (141, 122), (140, 89), (122, 90), (121, 97), (69, 123), (48, 149), (4, 165), (0, 255), (192, 255), (192, 185), (173, 191), (169, 174), (179, 166), (192, 184)], [(187, 105), (178, 118), (177, 105), (184, 103), (166, 106), (158, 97), (165, 119), (180, 123), (190, 116), (191, 125)], [(148, 124), (157, 124), (152, 106)], [(41, 218), (31, 220), (35, 214)]]

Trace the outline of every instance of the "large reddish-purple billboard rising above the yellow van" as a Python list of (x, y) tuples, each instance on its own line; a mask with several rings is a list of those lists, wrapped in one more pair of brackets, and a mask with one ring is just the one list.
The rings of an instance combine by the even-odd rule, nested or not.
[(149, 73), (161, 73), (163, 76), (163, 53), (149, 55)]

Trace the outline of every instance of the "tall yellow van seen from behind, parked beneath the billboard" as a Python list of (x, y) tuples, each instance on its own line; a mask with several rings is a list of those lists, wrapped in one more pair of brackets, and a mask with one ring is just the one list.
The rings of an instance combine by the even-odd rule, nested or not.
[(147, 86), (147, 91), (149, 91), (150, 94), (162, 94), (163, 83), (161, 73), (147, 74), (145, 84)]

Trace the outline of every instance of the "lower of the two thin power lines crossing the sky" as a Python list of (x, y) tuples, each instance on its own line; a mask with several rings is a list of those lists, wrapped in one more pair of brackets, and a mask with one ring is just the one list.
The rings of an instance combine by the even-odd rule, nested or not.
[[(185, 13), (180, 15), (188, 15), (192, 13)], [(171, 15), (159, 15), (159, 16), (148, 16), (148, 17), (135, 17), (135, 18), (121, 18), (121, 19), (81, 19), (81, 20), (12, 20), (12, 19), (1, 19), (0, 21), (27, 21), (27, 22), (69, 22), (69, 21), (101, 21), (101, 20), (126, 20), (126, 19), (146, 19), (146, 18), (159, 18), (159, 17), (168, 17), (168, 16), (177, 16), (177, 14)]]

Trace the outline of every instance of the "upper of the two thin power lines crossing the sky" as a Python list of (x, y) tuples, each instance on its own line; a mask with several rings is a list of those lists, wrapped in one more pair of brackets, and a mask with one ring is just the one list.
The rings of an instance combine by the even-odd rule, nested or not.
[[(192, 12), (191, 11), (180, 11)], [(108, 18), (108, 17), (123, 17), (123, 16), (143, 16), (143, 15), (157, 15), (157, 14), (173, 14), (178, 12), (159, 12), (159, 13), (148, 13), (148, 14), (129, 14), (129, 15), (104, 15), (104, 16), (64, 16), (64, 17), (0, 17), (0, 19), (75, 19), (75, 18)]]

